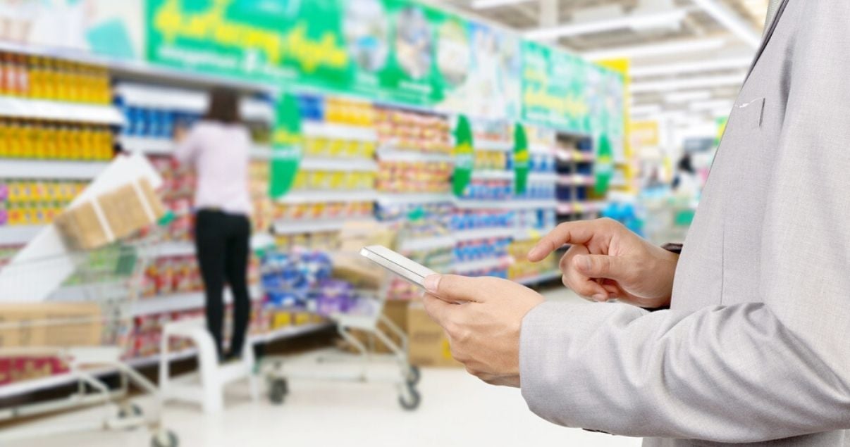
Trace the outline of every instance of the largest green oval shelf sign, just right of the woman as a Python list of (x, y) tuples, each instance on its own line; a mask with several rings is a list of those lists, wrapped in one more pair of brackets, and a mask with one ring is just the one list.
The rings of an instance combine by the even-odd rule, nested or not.
[(269, 197), (279, 198), (289, 192), (301, 162), (301, 113), (291, 94), (280, 95), (272, 130), (271, 148), (274, 153), (269, 166)]

